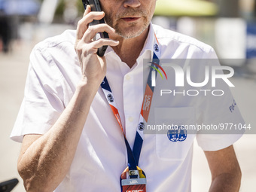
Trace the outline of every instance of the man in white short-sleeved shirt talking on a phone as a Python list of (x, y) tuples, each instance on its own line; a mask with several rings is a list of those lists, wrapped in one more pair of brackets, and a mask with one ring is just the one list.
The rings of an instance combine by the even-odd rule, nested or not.
[[(120, 175), (130, 156), (120, 126), (133, 148), (143, 100), (143, 59), (152, 59), (158, 50), (160, 59), (215, 58), (206, 44), (153, 26), (156, 0), (100, 3), (104, 13), (87, 6), (76, 35), (66, 31), (32, 51), (25, 98), (11, 135), (23, 142), (18, 170), (27, 191), (120, 191)], [(89, 27), (102, 17), (107, 24)], [(109, 39), (93, 41), (97, 32), (108, 32)], [(96, 52), (102, 45), (108, 50), (99, 57)], [(105, 76), (114, 96), (107, 99), (116, 102), (121, 123), (100, 87)], [(233, 101), (229, 92), (225, 98)], [(212, 105), (226, 106), (222, 100)], [(198, 121), (190, 111), (194, 105), (190, 100), (164, 107), (172, 120)], [(203, 110), (200, 118), (207, 122), (212, 114), (209, 106)], [(238, 109), (221, 110), (212, 118), (242, 122)], [(188, 137), (174, 143), (166, 135), (145, 134), (138, 166), (146, 175), (148, 191), (190, 191), (194, 137)], [(241, 172), (232, 146), (239, 137), (197, 136), (212, 172), (209, 191), (239, 190)]]

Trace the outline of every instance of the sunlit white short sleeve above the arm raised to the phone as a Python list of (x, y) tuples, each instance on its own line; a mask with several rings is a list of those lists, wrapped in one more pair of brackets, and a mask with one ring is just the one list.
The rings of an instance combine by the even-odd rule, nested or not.
[(30, 55), (24, 98), (11, 139), (22, 142), (26, 134), (44, 134), (64, 110), (61, 77), (47, 49), (36, 46)]

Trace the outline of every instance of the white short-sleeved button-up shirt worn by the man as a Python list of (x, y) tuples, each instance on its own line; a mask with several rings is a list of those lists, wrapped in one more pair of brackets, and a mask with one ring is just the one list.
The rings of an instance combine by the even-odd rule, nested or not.
[[(147, 78), (142, 75), (145, 69), (143, 59), (153, 56), (154, 32), (160, 44), (161, 59), (216, 58), (212, 47), (154, 25), (151, 25), (145, 46), (132, 69), (108, 47), (105, 53), (107, 78), (132, 148), (142, 107), (143, 82)], [(11, 133), (14, 141), (22, 142), (26, 134), (46, 133), (69, 104), (81, 79), (74, 42), (75, 31), (67, 30), (62, 35), (47, 38), (32, 50), (25, 96)], [(192, 70), (191, 79), (197, 78), (197, 72), (202, 71), (202, 67)], [(222, 88), (224, 96), (211, 98), (211, 102), (200, 96), (155, 99), (150, 118), (156, 123), (170, 120), (178, 125), (226, 120), (243, 123), (237, 106), (235, 111), (230, 112), (233, 97), (228, 87)], [(155, 93), (159, 92), (157, 89), (160, 88), (156, 87)], [(197, 134), (197, 142), (205, 151), (216, 151), (232, 145), (240, 136)], [(148, 192), (190, 191), (195, 137), (187, 134), (183, 142), (172, 142), (167, 131), (165, 134), (145, 134), (139, 166), (147, 175)], [(120, 174), (126, 166), (126, 146), (120, 126), (99, 87), (72, 165), (55, 191), (120, 191)]]

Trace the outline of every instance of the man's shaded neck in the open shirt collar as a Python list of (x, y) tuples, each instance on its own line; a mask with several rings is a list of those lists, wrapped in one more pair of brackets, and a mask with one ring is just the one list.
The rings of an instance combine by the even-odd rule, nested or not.
[(148, 31), (149, 27), (136, 38), (125, 39), (121, 38), (120, 36), (114, 38), (115, 40), (119, 41), (119, 44), (116, 47), (112, 47), (113, 50), (130, 68), (134, 66), (136, 59), (139, 57), (139, 54), (143, 49), (145, 41), (148, 37)]

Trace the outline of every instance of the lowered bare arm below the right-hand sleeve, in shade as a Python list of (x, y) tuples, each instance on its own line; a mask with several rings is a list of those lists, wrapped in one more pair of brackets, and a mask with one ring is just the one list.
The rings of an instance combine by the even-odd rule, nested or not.
[(236, 192), (241, 183), (241, 169), (233, 145), (219, 151), (204, 151), (212, 173), (209, 192)]

